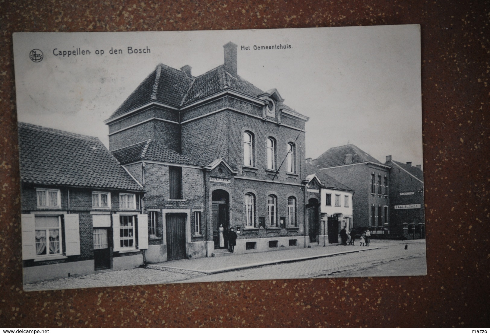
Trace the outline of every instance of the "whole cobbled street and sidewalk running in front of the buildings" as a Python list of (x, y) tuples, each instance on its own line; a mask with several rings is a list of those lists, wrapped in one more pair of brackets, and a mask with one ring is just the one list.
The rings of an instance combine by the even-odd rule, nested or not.
[[(408, 250), (405, 245), (408, 244)], [(328, 246), (184, 259), (145, 268), (25, 284), (25, 291), (163, 283), (223, 282), (352, 276), (425, 275), (425, 240), (371, 240), (372, 247)], [(418, 259), (417, 259), (418, 258)], [(408, 272), (399, 260), (417, 262)], [(415, 261), (415, 262), (414, 262)], [(398, 264), (397, 264), (398, 263)], [(374, 267), (378, 268), (374, 270)], [(373, 270), (369, 270), (373, 268)]]

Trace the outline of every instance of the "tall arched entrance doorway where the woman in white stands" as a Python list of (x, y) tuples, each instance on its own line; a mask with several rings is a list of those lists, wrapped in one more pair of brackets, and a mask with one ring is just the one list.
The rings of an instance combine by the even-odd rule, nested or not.
[[(228, 229), (229, 229), (229, 207), (230, 196), (228, 192), (218, 189), (211, 194), (213, 210), (213, 241), (215, 249), (228, 248)], [(220, 226), (223, 227), (223, 241), (220, 246)]]

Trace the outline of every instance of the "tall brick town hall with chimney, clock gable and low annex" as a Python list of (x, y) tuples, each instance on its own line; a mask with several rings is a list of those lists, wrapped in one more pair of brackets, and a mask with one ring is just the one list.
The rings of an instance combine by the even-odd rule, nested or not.
[(105, 121), (111, 152), (144, 185), (154, 215), (148, 261), (226, 253), (220, 225), (237, 231), (236, 253), (310, 243), (308, 117), (240, 77), (237, 46), (223, 48), (224, 64), (196, 77), (188, 65), (157, 65)]

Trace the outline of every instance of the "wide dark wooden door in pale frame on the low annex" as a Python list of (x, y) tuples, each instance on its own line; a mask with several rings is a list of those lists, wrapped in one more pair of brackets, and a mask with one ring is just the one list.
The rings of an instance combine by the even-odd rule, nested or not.
[(167, 260), (187, 258), (186, 253), (186, 218), (185, 213), (167, 213)]

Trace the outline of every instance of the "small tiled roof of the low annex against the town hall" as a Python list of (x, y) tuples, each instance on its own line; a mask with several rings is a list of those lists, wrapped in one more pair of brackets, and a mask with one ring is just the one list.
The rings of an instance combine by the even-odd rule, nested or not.
[(157, 144), (151, 139), (112, 151), (111, 153), (114, 154), (116, 159), (118, 159), (122, 165), (139, 160), (196, 165), (191, 159), (182, 154), (178, 154), (163, 145)]

